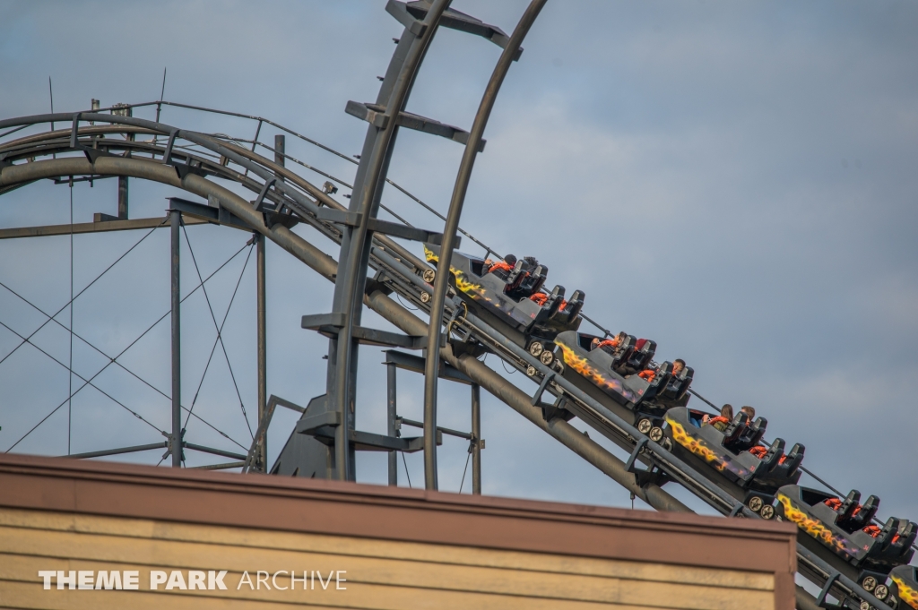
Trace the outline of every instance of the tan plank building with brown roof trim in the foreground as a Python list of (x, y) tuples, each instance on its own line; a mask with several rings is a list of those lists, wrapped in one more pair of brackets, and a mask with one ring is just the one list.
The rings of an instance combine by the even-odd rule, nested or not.
[[(790, 610), (794, 540), (743, 519), (0, 458), (3, 607)], [(44, 590), (42, 570), (139, 571), (140, 590)], [(228, 589), (151, 591), (154, 570), (225, 570)], [(237, 589), (243, 571), (346, 571), (346, 589)]]

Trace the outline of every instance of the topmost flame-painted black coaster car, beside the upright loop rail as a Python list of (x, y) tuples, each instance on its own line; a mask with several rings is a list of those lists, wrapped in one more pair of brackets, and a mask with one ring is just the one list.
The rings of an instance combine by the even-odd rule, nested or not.
[[(424, 255), (428, 262), (439, 262), (440, 247), (424, 244)], [(543, 292), (547, 273), (547, 267), (531, 258), (516, 261), (512, 267), (499, 262), (493, 271), (488, 271), (484, 259), (462, 252), (453, 252), (450, 261), (450, 285), (473, 313), (488, 322), (496, 318), (518, 331), (521, 337), (508, 336), (533, 356), (539, 357), (544, 351), (543, 363), (551, 364), (554, 354), (544, 347), (551, 345), (559, 332), (580, 326), (584, 294), (577, 290), (565, 300), (564, 286)]]

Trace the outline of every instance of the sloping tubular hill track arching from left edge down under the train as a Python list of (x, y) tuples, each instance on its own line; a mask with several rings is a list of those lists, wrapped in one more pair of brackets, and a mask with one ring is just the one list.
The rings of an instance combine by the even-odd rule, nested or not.
[[(3, 121), (0, 122), (0, 128), (20, 125), (22, 123), (43, 123), (47, 122), (49, 118), (50, 116), (37, 116), (28, 117), (27, 119)], [(84, 118), (95, 121), (108, 120), (113, 123), (127, 120), (106, 115), (85, 116)], [(63, 121), (66, 119), (66, 116), (54, 116), (54, 119)], [(139, 121), (140, 119), (130, 120), (133, 122)], [(157, 125), (151, 122), (145, 123), (145, 127), (152, 128), (155, 132), (163, 135), (178, 133), (177, 130), (168, 126)], [(82, 131), (82, 129), (80, 131)], [(55, 135), (56, 134), (53, 133), (50, 134), (50, 138), (53, 139)], [(268, 172), (264, 171), (263, 168), (270, 169), (271, 173), (281, 171), (281, 168), (276, 166), (272, 161), (267, 161), (263, 158), (259, 160), (260, 163), (253, 162), (252, 159), (256, 159), (257, 155), (242, 155), (238, 152), (239, 149), (237, 147), (229, 143), (218, 143), (200, 134), (190, 132), (186, 135), (189, 141), (197, 140), (199, 142), (205, 142), (207, 144), (205, 148), (212, 147), (218, 152), (233, 155), (235, 157), (234, 161), (246, 167), (246, 169), (249, 169), (256, 175), (261, 175), (261, 173), (267, 175)], [(123, 146), (123, 143), (117, 140), (116, 144), (119, 147)], [(162, 153), (166, 151), (166, 148), (163, 146), (148, 145), (148, 147), (152, 149), (151, 151), (162, 151)], [(50, 154), (51, 151), (60, 151), (63, 153), (67, 150), (73, 150), (73, 148), (69, 146), (69, 142), (62, 142), (58, 148), (46, 148), (45, 152)], [(34, 153), (34, 150), (28, 149), (20, 152), (23, 158), (34, 156), (34, 154), (31, 153)], [(7, 156), (6, 159), (9, 159), (9, 156)], [(194, 166), (194, 163), (196, 163), (196, 159), (193, 156), (187, 155), (185, 157), (186, 166)], [(207, 169), (211, 169), (206, 163), (207, 161), (205, 161)], [(222, 166), (218, 163), (213, 167), (213, 173), (215, 175), (226, 176), (229, 172), (229, 170), (224, 171)], [(261, 192), (261, 188), (258, 187), (257, 183), (243, 176), (240, 172), (233, 173), (236, 179), (243, 185), (249, 187), (252, 192)], [(180, 177), (180, 171), (176, 170), (175, 167), (166, 165), (162, 163), (162, 161), (155, 159), (139, 159), (136, 154), (131, 159), (124, 159), (123, 157), (114, 155), (99, 155), (96, 157), (95, 161), (90, 161), (83, 157), (72, 157), (58, 158), (50, 161), (34, 161), (30, 163), (9, 163), (0, 171), (0, 188), (19, 186), (40, 179), (65, 175), (128, 175), (129, 177), (172, 184), (202, 197), (214, 197), (218, 205), (228, 209), (229, 212), (240, 218), (241, 221), (250, 223), (254, 229), (258, 230), (266, 237), (272, 238), (275, 243), (296, 256), (300, 261), (306, 262), (311, 268), (319, 272), (320, 275), (327, 279), (332, 279), (337, 275), (338, 265), (336, 261), (332, 260), (306, 240), (299, 238), (284, 225), (277, 224), (269, 226), (265, 224), (265, 215), (257, 212), (253, 208), (252, 203), (246, 202), (239, 195), (193, 172), (185, 172), (185, 176)], [(285, 177), (287, 178), (286, 183), (299, 183), (304, 187), (304, 190), (306, 190), (308, 186), (306, 181), (296, 174), (285, 173)], [(275, 183), (275, 187), (276, 186), (277, 184)], [(288, 194), (288, 192), (285, 191), (284, 195), (286, 194)], [(314, 212), (312, 214), (309, 213), (309, 207), (316, 205), (304, 196), (303, 193), (291, 190), (289, 194), (292, 196), (286, 198), (276, 192), (268, 191), (265, 197), (272, 199), (276, 204), (282, 204), (282, 207), (288, 206), (295, 210), (297, 212), (297, 217), (319, 228), (326, 235), (332, 238), (336, 236), (336, 232), (330, 224), (326, 224), (319, 220), (319, 216)], [(312, 205), (307, 207), (307, 205), (304, 204)], [(307, 209), (303, 210), (303, 207), (307, 207)], [(316, 206), (316, 208), (318, 209), (318, 206)], [(340, 233), (337, 235), (340, 236)], [(376, 238), (380, 240), (381, 245), (385, 243), (383, 240), (389, 241), (384, 236), (376, 236)], [(399, 294), (409, 298), (415, 305), (424, 305), (425, 301), (421, 299), (420, 293), (426, 292), (430, 294), (431, 292), (431, 286), (420, 279), (420, 271), (426, 269), (424, 263), (411, 256), (409, 252), (401, 249), (394, 244), (394, 242), (390, 243), (392, 243), (393, 250), (400, 250), (398, 251), (398, 256), (402, 259), (402, 262), (388, 255), (386, 250), (382, 250), (379, 246), (374, 245), (374, 257), (372, 260), (375, 268), (380, 271), (391, 273), (391, 275), (394, 276), (390, 277), (388, 281), (391, 287), (398, 290)], [(383, 246), (383, 248), (387, 247), (388, 245)], [(369, 294), (364, 294), (364, 302), (397, 327), (400, 327), (407, 334), (417, 336), (426, 332), (428, 326), (426, 323), (390, 299), (386, 292), (379, 287), (373, 285), (372, 290), (367, 292)], [(474, 316), (467, 316), (463, 322), (463, 326), (480, 333), (478, 337), (488, 341), (502, 357), (518, 369), (523, 370), (525, 367), (532, 365), (536, 366), (543, 375), (550, 373), (550, 371), (545, 369), (540, 362), (533, 361), (528, 352), (517, 348), (515, 344), (502, 338), (497, 331), (487, 327), (483, 322), (476, 320)], [(635, 495), (641, 497), (649, 505), (660, 510), (688, 510), (685, 505), (679, 503), (674, 497), (667, 494), (658, 485), (655, 485), (655, 483), (648, 482), (644, 485), (639, 485), (633, 473), (626, 468), (624, 462), (610, 454), (607, 450), (602, 449), (594, 441), (582, 435), (577, 428), (571, 427), (564, 419), (554, 418), (545, 420), (543, 418), (542, 409), (532, 404), (532, 399), (529, 395), (522, 393), (519, 388), (507, 382), (503, 377), (498, 375), (497, 372), (489, 369), (484, 363), (468, 355), (456, 356), (451, 346), (443, 347), (441, 349), (441, 356), (446, 362), (453, 365), (453, 367), (459, 371), (464, 372), (470, 379), (480, 386), (485, 387), (488, 392), (498, 396), (498, 398), (516, 409), (523, 416), (526, 416), (537, 426), (554, 436), (554, 438), (560, 440), (565, 446), (577, 452), (578, 455), (588, 460), (590, 463), (593, 463), (601, 471), (607, 473), (613, 480), (621, 483), (626, 489), (629, 489)], [(576, 408), (577, 415), (583, 416), (585, 421), (588, 421), (588, 423), (594, 427), (610, 435), (610, 438), (616, 439), (622, 444), (631, 441), (628, 446), (632, 448), (636, 447), (640, 441), (644, 441), (644, 435), (633, 427), (625, 424), (617, 416), (614, 416), (614, 414), (609, 413), (601, 405), (596, 404), (595, 401), (589, 399), (588, 396), (579, 393), (577, 388), (565, 387), (565, 381), (563, 379), (558, 379), (554, 383), (550, 383), (548, 385), (548, 390), (552, 393), (557, 392), (558, 394), (565, 395), (572, 399), (568, 408)], [(725, 494), (722, 494), (718, 489), (703, 481), (703, 477), (698, 475), (692, 477), (689, 467), (668, 454), (665, 449), (649, 440), (641, 443), (641, 445), (644, 453), (639, 457), (642, 460), (655, 461), (656, 465), (662, 467), (668, 474), (671, 474), (674, 480), (685, 484), (690, 491), (698, 494), (702, 499), (708, 501), (723, 513), (726, 514), (737, 510), (746, 516), (754, 516), (732, 498), (726, 497)], [(809, 570), (804, 571), (804, 573), (810, 574), (813, 580), (817, 582), (822, 583), (828, 581), (833, 573), (828, 566), (823, 565), (820, 560), (812, 557), (805, 549), (800, 549), (799, 556), (801, 567), (806, 565), (812, 566)], [(846, 580), (845, 577), (835, 580), (834, 587), (836, 589), (841, 589), (843, 586), (847, 589), (845, 593), (856, 593), (869, 600), (869, 597), (866, 597), (869, 593), (863, 592), (856, 583)], [(802, 599), (807, 599), (804, 593), (800, 594)], [(878, 608), (883, 607), (879, 601), (877, 601), (875, 605)]]

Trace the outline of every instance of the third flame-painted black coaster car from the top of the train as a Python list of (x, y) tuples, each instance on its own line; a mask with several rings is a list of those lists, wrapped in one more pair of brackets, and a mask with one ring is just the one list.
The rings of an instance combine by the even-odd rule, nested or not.
[(665, 432), (672, 440), (673, 453), (689, 463), (702, 464), (698, 471), (770, 519), (775, 514), (772, 494), (800, 480), (804, 447), (794, 445), (785, 455), (781, 438), (776, 438), (770, 448), (761, 447), (759, 442), (768, 426), (765, 417), (750, 424), (746, 414), (739, 413), (721, 431), (702, 423), (704, 415), (684, 406), (666, 411)]

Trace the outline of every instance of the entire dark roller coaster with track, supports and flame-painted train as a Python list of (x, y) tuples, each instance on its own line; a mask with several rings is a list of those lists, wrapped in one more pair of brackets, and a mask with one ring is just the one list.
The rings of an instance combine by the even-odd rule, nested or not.
[[(881, 543), (873, 545), (876, 549), (860, 552), (857, 545), (867, 538), (861, 539), (863, 532), (859, 527), (875, 522), (876, 504), (879, 501), (873, 498), (859, 505), (859, 494), (849, 494), (845, 501), (841, 501), (836, 498), (836, 495), (841, 494), (831, 487), (829, 489), (836, 495), (797, 487), (793, 483), (797, 482), (800, 473), (796, 472), (796, 478), (793, 475), (796, 469), (802, 470), (802, 448), (795, 448), (784, 456), (783, 441), (780, 439), (767, 444), (767, 454), (761, 459), (744, 457), (748, 449), (761, 441), (767, 422), (757, 420), (754, 424), (745, 421), (744, 416), (737, 416), (731, 427), (722, 434), (718, 433), (721, 436), (712, 437), (711, 434), (715, 432), (712, 427), (700, 427), (697, 420), (700, 411), (684, 406), (688, 400), (687, 393), (698, 396), (689, 389), (690, 372), (688, 382), (685, 381), (685, 372), (677, 379), (666, 368), (671, 366), (670, 363), (663, 363), (658, 368), (660, 379), (656, 382), (657, 389), (650, 392), (655, 397), (644, 394), (649, 391), (647, 388), (652, 383), (648, 383), (647, 387), (641, 386), (644, 389), (639, 388), (639, 397), (635, 397), (637, 394), (628, 395), (621, 387), (620, 391), (616, 391), (618, 394), (604, 391), (603, 388), (608, 389), (614, 385), (615, 380), (620, 380), (615, 383), (621, 385), (627, 379), (621, 382), (622, 378), (616, 376), (616, 369), (610, 368), (622, 364), (620, 361), (609, 364), (602, 360), (606, 356), (601, 355), (599, 350), (593, 353), (582, 342), (577, 343), (577, 337), (592, 337), (583, 333), (578, 335), (579, 318), (593, 322), (579, 311), (579, 305), (577, 312), (569, 308), (566, 310), (571, 318), (567, 320), (571, 323), (567, 327), (556, 327), (554, 335), (545, 335), (545, 325), (542, 325), (539, 326), (542, 334), (533, 335), (533, 325), (509, 324), (509, 318), (495, 314), (493, 306), (489, 308), (485, 305), (487, 290), (481, 284), (469, 282), (494, 282), (493, 277), (486, 281), (486, 276), (493, 274), (487, 273), (481, 263), (495, 251), (458, 226), (466, 188), (476, 157), (484, 150), (484, 130), (501, 83), (513, 61), (520, 59), (521, 43), (544, 3), (545, 0), (532, 0), (519, 24), (508, 36), (499, 28), (450, 9), (450, 3), (446, 0), (409, 3), (389, 0), (386, 11), (405, 29), (401, 37), (396, 39), (396, 50), (382, 78), (379, 94), (373, 103), (348, 102), (346, 106), (346, 112), (368, 123), (353, 185), (288, 156), (285, 153), (285, 135), (276, 136), (274, 146), (263, 144), (259, 135), (263, 125), (271, 125), (287, 135), (353, 162), (351, 158), (257, 116), (213, 111), (161, 100), (138, 105), (115, 105), (105, 109), (95, 107), (94, 104), (94, 108), (88, 112), (0, 120), (0, 194), (48, 179), (69, 181), (73, 186), (74, 181), (118, 177), (119, 187), (118, 216), (99, 214), (94, 223), (84, 225), (0, 229), (0, 238), (143, 228), (152, 231), (166, 226), (172, 231), (172, 430), (162, 431), (167, 439), (161, 443), (95, 451), (72, 457), (91, 458), (164, 448), (173, 466), (181, 467), (183, 449), (195, 449), (236, 460), (224, 466), (241, 467), (242, 471), (271, 471), (276, 474), (353, 481), (355, 452), (377, 450), (388, 452), (390, 482), (394, 482), (397, 452), (422, 450), (425, 486), (437, 489), (436, 447), (438, 438), (442, 434), (449, 434), (469, 440), (470, 452), (475, 460), (473, 490), (480, 493), (479, 452), (482, 441), (477, 409), (479, 388), (484, 388), (657, 510), (689, 511), (689, 507), (662, 487), (666, 483), (677, 483), (722, 515), (770, 518), (777, 513), (777, 516), (797, 523), (804, 533), (809, 534), (801, 534), (798, 542), (800, 574), (821, 588), (817, 599), (798, 586), (799, 608), (810, 610), (832, 607), (827, 601), (830, 594), (839, 600), (839, 605), (834, 607), (891, 610), (899, 605), (918, 608), (918, 605), (914, 605), (918, 604), (918, 593), (910, 589), (916, 586), (914, 569), (905, 565), (912, 556), (912, 549), (908, 547), (913, 540), (914, 524), (908, 520), (900, 522), (896, 519), (890, 519), (885, 525), (876, 522), (883, 529), (879, 537), (871, 539), (880, 540)], [(420, 65), (437, 28), (441, 27), (487, 39), (502, 49), (469, 131), (405, 111)], [(252, 140), (231, 139), (221, 134), (201, 133), (162, 124), (159, 118), (163, 105), (252, 119), (257, 121), (255, 137)], [(155, 120), (133, 116), (134, 110), (149, 109), (151, 106), (156, 108)], [(58, 123), (65, 127), (56, 129)], [(50, 131), (40, 130), (45, 124), (50, 124)], [(436, 213), (387, 178), (399, 128), (453, 139), (465, 146), (446, 216)], [(20, 131), (28, 135), (17, 134)], [(258, 147), (273, 152), (273, 158), (260, 154)], [(335, 184), (326, 182), (321, 187), (317, 186), (291, 171), (286, 161), (293, 161), (309, 172), (317, 172), (342, 187), (350, 188), (350, 205), (345, 207), (331, 197), (338, 189)], [(129, 218), (128, 206), (129, 179), (174, 186), (204, 201), (195, 203), (173, 197), (165, 217), (132, 219)], [(226, 182), (251, 192), (254, 199), (248, 201), (221, 185)], [(393, 216), (400, 222), (380, 219), (380, 200), (386, 183), (439, 216), (444, 221), (442, 232), (413, 227), (395, 213), (392, 213)], [(195, 445), (187, 442), (183, 435), (182, 413), (189, 409), (181, 402), (179, 313), (183, 299), (178, 283), (179, 239), (185, 225), (205, 222), (255, 234), (253, 243), (258, 252), (259, 293), (259, 425), (252, 435), (251, 447), (242, 448), (246, 450), (245, 454)], [(298, 223), (315, 228), (320, 236), (338, 244), (338, 260), (292, 231), (291, 227)], [(455, 253), (454, 249), (459, 243), (457, 233), (474, 241), (485, 250), (485, 255), (476, 259)], [(269, 398), (266, 392), (265, 238), (271, 239), (281, 249), (334, 283), (330, 313), (304, 316), (302, 320), (302, 327), (316, 330), (329, 338), (326, 392), (312, 399), (306, 408), (275, 396)], [(428, 254), (426, 260), (420, 259), (397, 239), (423, 243)], [(467, 265), (465, 273), (461, 271), (463, 264)], [(529, 276), (538, 274), (536, 270), (521, 268), (519, 263), (517, 267), (513, 270), (516, 275), (509, 280), (509, 287), (521, 277), (521, 272), (528, 272)], [(476, 270), (479, 273), (475, 273)], [(197, 287), (203, 286), (207, 279), (200, 278), (201, 283)], [(515, 289), (518, 285), (512, 287)], [(392, 298), (393, 295), (398, 300)], [(559, 310), (568, 306), (563, 303), (563, 289), (560, 294), (555, 291), (548, 296), (549, 303), (545, 306), (549, 310), (543, 316), (546, 319), (554, 318)], [(582, 296), (579, 295), (581, 304)], [(516, 299), (517, 305), (524, 299)], [(576, 297), (572, 295), (571, 301), (575, 300)], [(429, 324), (400, 302), (408, 302), (438, 323)], [(361, 326), (364, 306), (404, 334)], [(531, 305), (521, 307), (525, 309)], [(54, 317), (46, 316), (49, 322)], [(214, 323), (218, 327), (216, 318)], [(602, 327), (599, 329), (602, 334), (597, 337), (610, 337), (608, 330)], [(20, 338), (23, 344), (29, 339), (24, 336)], [(357, 360), (361, 344), (422, 350), (428, 346), (437, 346), (440, 356), (419, 358), (396, 349), (386, 352), (389, 381), (388, 435), (371, 434), (355, 427)], [(505, 365), (525, 372), (527, 378), (537, 384), (537, 390), (531, 395), (509, 383), (479, 360), (484, 353), (496, 354)], [(646, 353), (644, 349), (644, 355)], [(641, 360), (640, 350), (632, 349), (627, 357)], [(108, 358), (120, 366), (117, 356)], [(650, 357), (644, 358), (644, 365), (650, 361)], [(610, 369), (603, 370), (604, 377), (599, 375), (603, 366)], [(423, 423), (396, 415), (397, 368), (425, 373)], [(597, 383), (597, 375), (601, 383)], [(96, 387), (93, 379), (81, 379), (83, 386), (89, 384)], [(472, 387), (471, 433), (437, 426), (438, 379), (466, 383)], [(554, 396), (554, 401), (543, 400), (546, 395)], [(302, 415), (278, 460), (269, 469), (264, 439), (274, 408), (278, 405), (299, 411)], [(126, 405), (121, 406), (129, 409)], [(139, 414), (131, 413), (143, 419)], [(568, 422), (575, 416), (628, 452), (629, 459), (620, 460), (571, 426)], [(403, 424), (423, 427), (423, 436), (401, 438), (397, 429)], [(741, 447), (737, 443), (745, 445)], [(724, 449), (731, 447), (733, 449)], [(791, 463), (783, 471), (784, 478), (778, 477), (771, 487), (763, 482), (765, 479), (755, 476), (756, 469), (765, 470), (760, 462), (766, 463), (769, 471), (776, 471), (778, 461), (784, 464), (786, 460)], [(816, 475), (812, 476), (822, 482)], [(790, 484), (777, 487), (778, 483)], [(850, 523), (855, 522), (857, 527), (850, 526)], [(910, 534), (912, 538), (907, 540), (906, 549), (901, 552), (897, 550), (898, 554), (893, 557), (890, 549), (900, 549), (902, 542), (899, 538), (908, 538)], [(852, 548), (846, 548), (845, 544)], [(865, 548), (871, 544), (868, 540)], [(886, 581), (888, 575), (891, 579), (889, 583)], [(916, 597), (910, 601), (912, 594)]]

